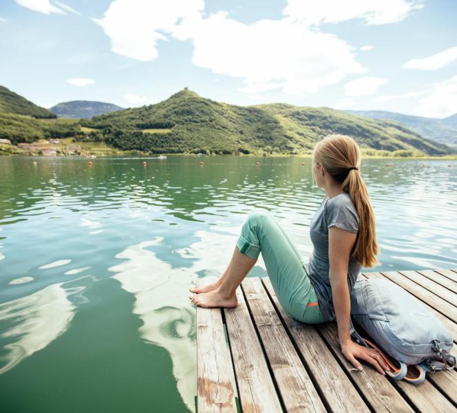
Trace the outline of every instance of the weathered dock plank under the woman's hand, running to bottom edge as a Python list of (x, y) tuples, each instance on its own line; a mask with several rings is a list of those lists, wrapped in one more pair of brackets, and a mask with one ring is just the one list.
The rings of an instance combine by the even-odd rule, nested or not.
[(361, 372), (351, 370), (353, 368), (352, 363), (344, 357), (339, 347), (336, 323), (319, 324), (317, 328), (322, 332), (324, 339), (332, 348), (333, 354), (339, 359), (344, 370), (351, 375), (352, 380), (357, 384), (374, 412), (414, 412), (387, 377), (381, 375), (374, 367), (365, 361), (361, 361), (366, 365)]

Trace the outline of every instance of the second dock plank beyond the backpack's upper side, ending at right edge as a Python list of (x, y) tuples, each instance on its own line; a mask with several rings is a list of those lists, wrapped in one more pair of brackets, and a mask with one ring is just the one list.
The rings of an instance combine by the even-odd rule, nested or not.
[(447, 301), (441, 297), (438, 297), (434, 293), (431, 293), (429, 290), (427, 290), (427, 288), (416, 284), (415, 282), (411, 281), (404, 275), (397, 273), (396, 271), (381, 271), (381, 274), (385, 275), (385, 277), (389, 278), (399, 286), (402, 286), (416, 297), (422, 299), (427, 304), (429, 304), (429, 306), (435, 308), (447, 318), (457, 322), (457, 308), (454, 306), (449, 306)]

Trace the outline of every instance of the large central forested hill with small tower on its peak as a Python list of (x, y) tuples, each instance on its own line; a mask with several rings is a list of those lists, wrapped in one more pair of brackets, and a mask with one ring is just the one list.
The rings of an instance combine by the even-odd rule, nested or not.
[(83, 125), (103, 131), (120, 149), (153, 152), (265, 151), (301, 153), (328, 134), (354, 137), (361, 147), (444, 155), (446, 145), (422, 138), (390, 120), (354, 116), (325, 107), (286, 104), (237, 106), (184, 89), (155, 105), (96, 116)]

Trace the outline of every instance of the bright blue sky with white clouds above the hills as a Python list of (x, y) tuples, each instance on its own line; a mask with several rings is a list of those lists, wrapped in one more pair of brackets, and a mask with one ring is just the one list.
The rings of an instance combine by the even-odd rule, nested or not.
[(454, 0), (0, 0), (0, 85), (43, 107), (139, 107), (189, 87), (444, 118), (456, 21)]

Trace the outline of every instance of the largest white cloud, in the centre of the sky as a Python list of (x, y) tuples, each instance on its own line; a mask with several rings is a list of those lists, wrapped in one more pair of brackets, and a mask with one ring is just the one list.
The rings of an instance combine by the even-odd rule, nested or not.
[(173, 36), (193, 41), (194, 65), (242, 78), (241, 90), (248, 94), (281, 87), (300, 96), (364, 72), (346, 41), (290, 19), (244, 24), (224, 12), (206, 19), (194, 15)]

